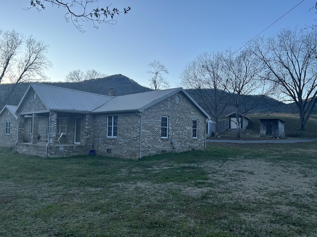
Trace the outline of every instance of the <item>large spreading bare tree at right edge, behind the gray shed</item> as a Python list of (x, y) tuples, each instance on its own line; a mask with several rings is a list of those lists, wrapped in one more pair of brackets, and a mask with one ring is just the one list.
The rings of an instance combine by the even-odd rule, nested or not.
[(300, 130), (305, 130), (317, 103), (316, 30), (282, 29), (275, 37), (257, 40), (253, 51), (264, 62), (268, 79), (279, 89), (278, 98), (286, 96), (295, 102)]

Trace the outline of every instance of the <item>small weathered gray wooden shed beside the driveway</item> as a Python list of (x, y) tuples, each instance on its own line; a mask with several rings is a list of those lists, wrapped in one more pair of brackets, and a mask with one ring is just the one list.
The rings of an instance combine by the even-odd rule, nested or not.
[(285, 137), (285, 122), (279, 118), (260, 119), (260, 135), (262, 137)]

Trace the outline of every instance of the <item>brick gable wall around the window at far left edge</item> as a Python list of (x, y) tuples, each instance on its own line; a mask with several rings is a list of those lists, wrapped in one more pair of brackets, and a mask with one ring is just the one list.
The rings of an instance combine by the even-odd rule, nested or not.
[[(0, 147), (14, 147), (17, 136), (18, 120), (8, 110), (0, 116)], [(10, 121), (10, 134), (5, 134), (5, 121)]]

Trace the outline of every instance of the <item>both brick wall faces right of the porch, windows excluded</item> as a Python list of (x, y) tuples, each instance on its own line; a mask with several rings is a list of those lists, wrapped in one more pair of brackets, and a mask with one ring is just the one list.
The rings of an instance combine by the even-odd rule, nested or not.
[[(172, 96), (142, 114), (142, 157), (167, 152), (205, 149), (204, 118), (184, 97)], [(114, 114), (115, 115), (115, 114)], [(168, 138), (161, 138), (161, 116), (168, 116)], [(193, 119), (198, 120), (198, 138), (192, 137)], [(100, 155), (139, 158), (140, 117), (118, 115), (116, 138), (106, 137), (106, 116), (94, 118), (94, 149)], [(174, 143), (171, 143), (171, 140)]]

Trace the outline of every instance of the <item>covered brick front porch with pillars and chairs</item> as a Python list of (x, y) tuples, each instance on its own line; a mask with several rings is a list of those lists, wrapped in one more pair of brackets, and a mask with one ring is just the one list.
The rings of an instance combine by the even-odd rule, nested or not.
[(92, 150), (91, 116), (73, 113), (19, 115), (15, 151), (40, 157), (88, 155)]

